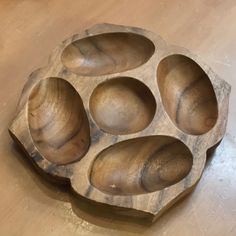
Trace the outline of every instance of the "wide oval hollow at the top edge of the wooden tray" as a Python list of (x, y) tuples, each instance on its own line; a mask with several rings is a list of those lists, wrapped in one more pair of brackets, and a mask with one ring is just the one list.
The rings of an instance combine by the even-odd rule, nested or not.
[(62, 53), (62, 63), (79, 75), (104, 75), (127, 71), (144, 64), (154, 44), (134, 33), (104, 33), (72, 42)]

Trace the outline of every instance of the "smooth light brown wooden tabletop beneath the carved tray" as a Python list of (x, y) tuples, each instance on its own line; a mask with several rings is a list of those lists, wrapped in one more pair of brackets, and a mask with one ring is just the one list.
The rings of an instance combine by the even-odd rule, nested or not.
[[(235, 0), (0, 0), (0, 235), (236, 235)], [(232, 85), (226, 135), (195, 191), (154, 224), (102, 212), (47, 183), (7, 127), (27, 76), (96, 23), (145, 28), (200, 56)]]

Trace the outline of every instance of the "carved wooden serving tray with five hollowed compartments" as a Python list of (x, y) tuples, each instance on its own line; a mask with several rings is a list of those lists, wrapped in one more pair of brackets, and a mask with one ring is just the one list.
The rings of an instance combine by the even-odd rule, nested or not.
[(52, 180), (155, 220), (201, 178), (225, 133), (229, 93), (188, 50), (100, 24), (29, 76), (9, 131)]

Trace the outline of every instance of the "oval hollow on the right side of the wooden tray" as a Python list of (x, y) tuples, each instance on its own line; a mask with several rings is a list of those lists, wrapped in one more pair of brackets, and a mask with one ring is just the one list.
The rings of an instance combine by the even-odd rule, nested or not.
[(201, 135), (213, 128), (218, 118), (215, 92), (196, 62), (178, 54), (164, 58), (157, 82), (165, 110), (179, 129)]

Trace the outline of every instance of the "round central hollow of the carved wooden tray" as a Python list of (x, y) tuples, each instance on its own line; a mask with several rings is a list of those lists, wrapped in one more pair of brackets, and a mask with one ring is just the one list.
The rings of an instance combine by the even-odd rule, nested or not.
[(146, 128), (156, 111), (150, 89), (130, 77), (99, 84), (90, 98), (90, 112), (98, 126), (111, 134), (131, 134)]

